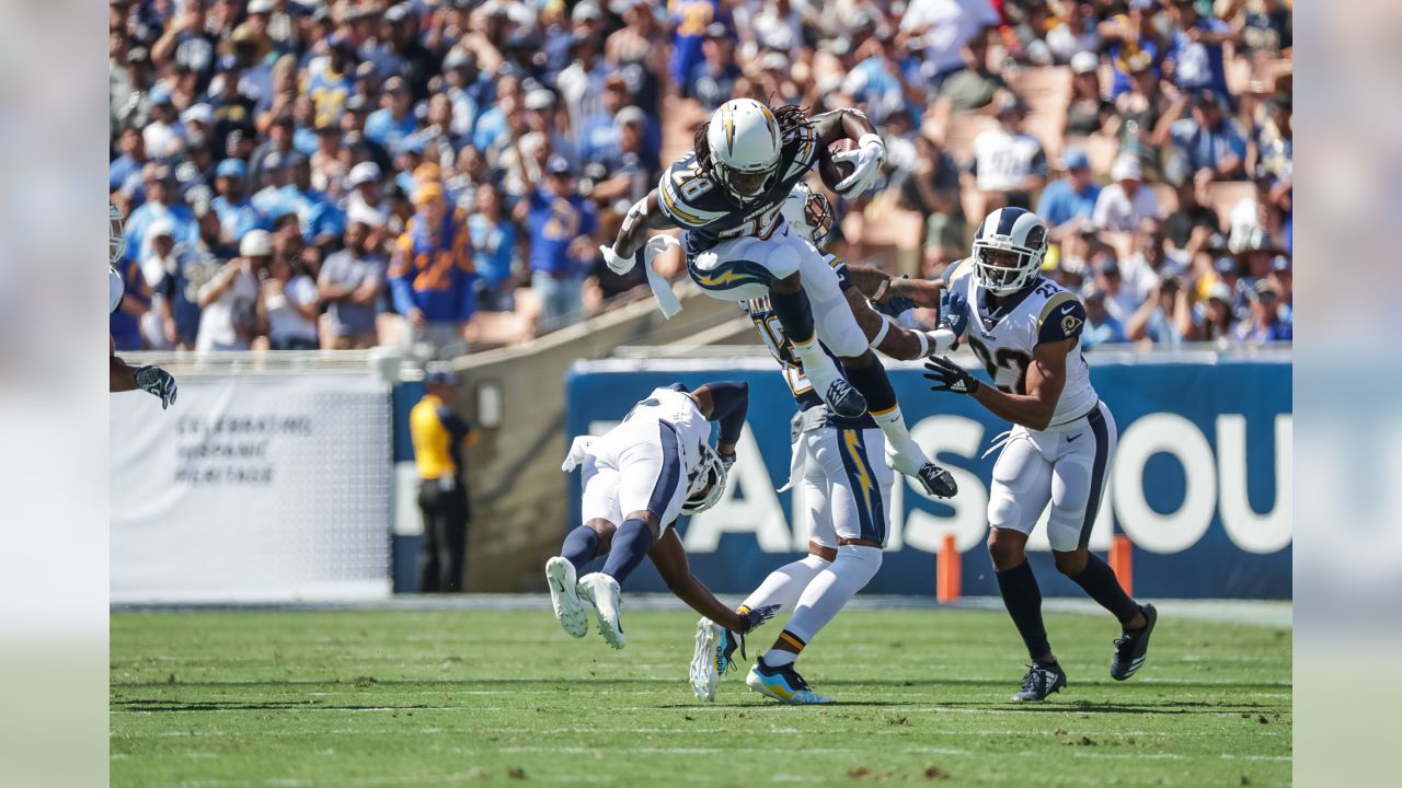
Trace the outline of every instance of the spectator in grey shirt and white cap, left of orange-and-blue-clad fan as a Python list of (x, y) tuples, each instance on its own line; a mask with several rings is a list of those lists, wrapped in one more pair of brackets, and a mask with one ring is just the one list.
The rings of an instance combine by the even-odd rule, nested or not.
[(346, 226), (345, 245), (321, 266), (317, 294), (327, 304), (327, 334), (335, 351), (377, 344), (376, 304), (384, 290), (386, 261), (373, 250), (370, 236), (383, 224), (377, 212), (356, 212)]

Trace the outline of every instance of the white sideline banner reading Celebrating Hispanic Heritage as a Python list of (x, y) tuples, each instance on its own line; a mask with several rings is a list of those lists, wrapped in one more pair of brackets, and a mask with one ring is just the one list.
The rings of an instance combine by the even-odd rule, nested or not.
[(184, 376), (111, 400), (112, 602), (390, 593), (390, 391), (367, 374)]

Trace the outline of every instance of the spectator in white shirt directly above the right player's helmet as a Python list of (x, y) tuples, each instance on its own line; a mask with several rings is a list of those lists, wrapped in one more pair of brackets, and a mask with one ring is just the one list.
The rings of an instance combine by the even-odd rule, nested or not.
[(984, 212), (1004, 206), (1032, 209), (1032, 192), (1047, 178), (1047, 154), (1026, 133), (1026, 107), (1012, 94), (998, 104), (998, 125), (973, 140), (969, 174), (983, 192)]

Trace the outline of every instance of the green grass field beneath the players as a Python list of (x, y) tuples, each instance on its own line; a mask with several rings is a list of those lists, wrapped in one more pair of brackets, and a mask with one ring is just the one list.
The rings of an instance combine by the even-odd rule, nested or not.
[(841, 705), (789, 708), (740, 673), (695, 702), (694, 621), (613, 652), (548, 611), (114, 613), (112, 785), (1290, 781), (1288, 630), (1164, 617), (1122, 684), (1108, 617), (1049, 616), (1071, 684), (1029, 707), (1001, 613), (848, 611), (801, 662)]

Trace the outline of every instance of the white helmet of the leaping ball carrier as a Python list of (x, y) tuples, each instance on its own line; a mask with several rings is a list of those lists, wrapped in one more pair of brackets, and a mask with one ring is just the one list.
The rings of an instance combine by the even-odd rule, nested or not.
[(705, 130), (715, 178), (740, 203), (753, 202), (774, 184), (780, 168), (780, 123), (753, 98), (733, 98), (711, 115)]

